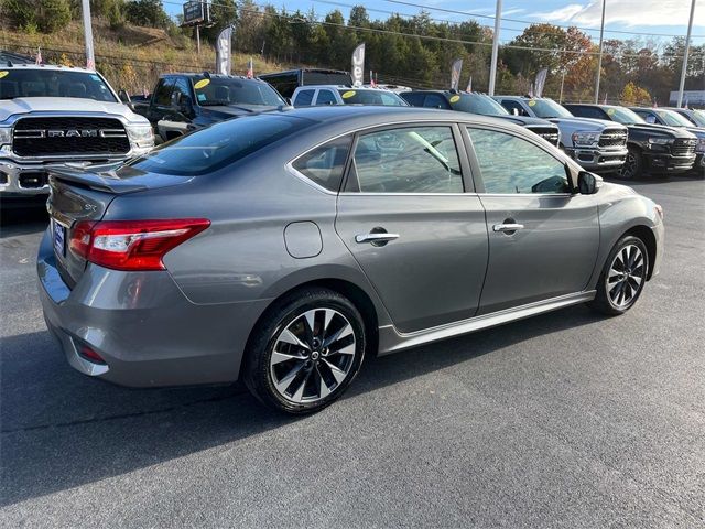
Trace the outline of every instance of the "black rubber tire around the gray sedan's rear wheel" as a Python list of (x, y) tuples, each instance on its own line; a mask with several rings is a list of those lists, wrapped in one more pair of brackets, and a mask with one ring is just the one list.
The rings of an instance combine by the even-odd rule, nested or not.
[[(322, 311), (324, 319), (327, 317), (326, 310), (337, 313), (327, 323), (328, 327), (325, 327), (325, 324), (319, 321)], [(315, 311), (315, 322), (314, 330), (308, 333), (306, 328), (311, 330), (312, 327), (308, 325), (305, 314), (311, 314), (311, 311)], [(352, 330), (354, 347), (347, 345), (341, 346), (341, 349), (354, 349), (354, 354), (346, 353), (334, 357), (339, 353), (333, 353), (332, 350), (330, 356), (325, 356), (328, 355), (328, 347), (324, 348), (324, 343), (327, 338), (332, 338), (332, 336), (326, 336), (326, 332), (330, 330), (330, 325), (337, 325), (337, 327), (343, 328), (346, 324), (349, 324)], [(295, 337), (308, 344), (308, 349), (282, 339), (284, 331), (290, 332), (299, 327), (304, 332), (294, 333)], [(332, 331), (330, 334), (335, 335), (335, 331)], [(310, 335), (308, 338), (311, 339), (306, 335)], [(321, 343), (314, 347), (312, 344), (316, 339), (319, 339)], [(334, 341), (332, 345), (341, 344), (343, 341), (344, 338)], [(285, 352), (275, 352), (275, 346), (279, 345), (281, 348), (282, 344), (289, 348)], [(294, 291), (276, 301), (253, 330), (245, 357), (245, 384), (254, 397), (270, 408), (294, 414), (316, 412), (337, 400), (345, 392), (362, 365), (366, 347), (366, 330), (362, 316), (347, 298), (324, 288)], [(333, 348), (330, 347), (330, 349)], [(315, 359), (314, 352), (316, 353)], [(282, 353), (286, 354), (282, 355)], [(272, 358), (274, 354), (278, 355), (278, 358)], [(300, 355), (307, 359), (303, 361)], [(282, 356), (291, 356), (292, 359), (272, 364)], [(337, 374), (333, 373), (332, 363), (336, 368), (340, 368)], [(303, 364), (303, 366), (299, 367), (300, 364)], [(311, 364), (311, 366), (306, 364)], [(299, 370), (291, 380), (291, 385), (283, 389), (284, 392), (276, 389), (278, 373), (291, 374), (295, 369)], [(345, 378), (338, 381), (337, 376), (343, 370), (345, 370)], [(304, 389), (300, 396), (300, 399), (304, 400), (295, 401), (296, 392), (294, 392), (293, 387), (304, 377), (305, 380), (302, 382)], [(280, 385), (284, 384), (285, 378), (286, 376), (280, 377)], [(330, 384), (326, 382), (326, 380)], [(325, 390), (323, 385), (325, 385)], [(300, 388), (299, 386), (296, 387)], [(289, 388), (292, 388), (290, 392), (293, 395), (285, 392)], [(314, 393), (317, 391), (317, 396), (311, 395), (312, 391)], [(329, 393), (323, 396), (324, 391), (329, 391)]]

